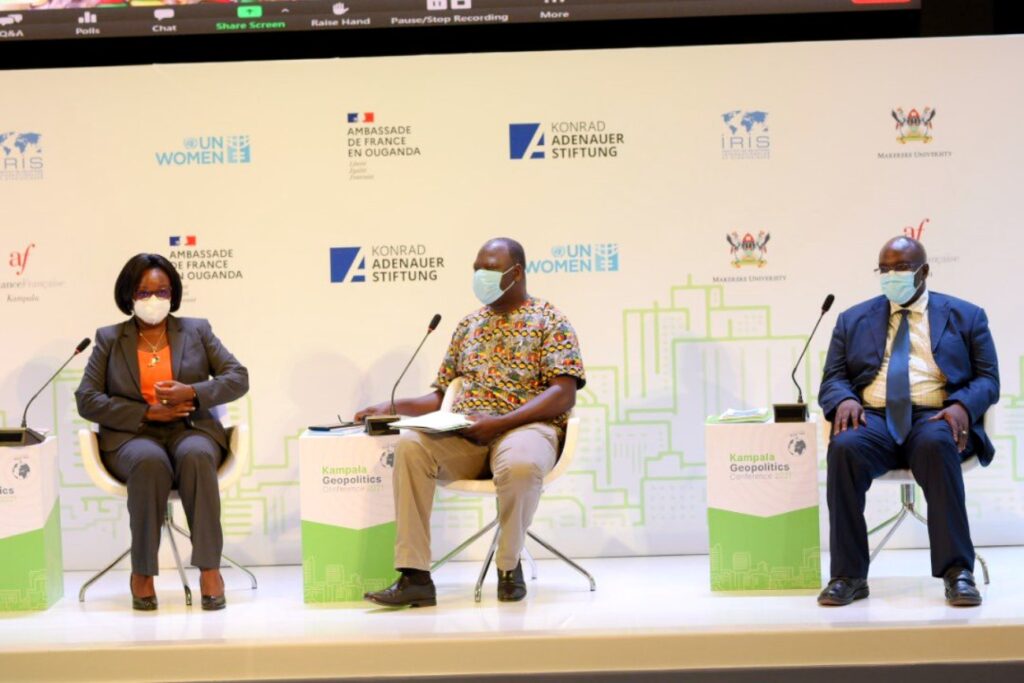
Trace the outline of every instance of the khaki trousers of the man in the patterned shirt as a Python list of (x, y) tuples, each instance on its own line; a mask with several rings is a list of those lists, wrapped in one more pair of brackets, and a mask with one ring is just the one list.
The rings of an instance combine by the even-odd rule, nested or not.
[(558, 430), (540, 422), (506, 432), (488, 445), (457, 434), (402, 432), (394, 457), (395, 567), (430, 569), (430, 510), (437, 481), (481, 479), (493, 472), (501, 528), (495, 562), (499, 569), (514, 569), (544, 476), (558, 459)]

